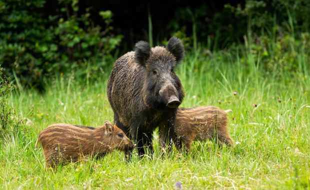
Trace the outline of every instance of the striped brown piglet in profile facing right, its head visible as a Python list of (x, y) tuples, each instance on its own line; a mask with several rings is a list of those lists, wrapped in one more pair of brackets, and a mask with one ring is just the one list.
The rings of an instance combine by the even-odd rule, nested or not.
[(46, 167), (55, 167), (87, 156), (103, 156), (113, 149), (128, 151), (135, 144), (116, 125), (108, 121), (97, 128), (72, 124), (51, 124), (42, 130), (35, 143), (41, 143)]

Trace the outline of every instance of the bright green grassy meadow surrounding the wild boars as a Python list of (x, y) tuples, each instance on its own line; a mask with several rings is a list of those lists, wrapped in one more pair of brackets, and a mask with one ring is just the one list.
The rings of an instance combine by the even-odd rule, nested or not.
[[(221, 54), (222, 53), (222, 54)], [(102, 159), (44, 169), (37, 134), (63, 122), (99, 126), (112, 121), (107, 70), (95, 82), (55, 78), (45, 94), (17, 89), (9, 105), (23, 129), (0, 146), (1, 189), (309, 189), (310, 76), (307, 58), (297, 72), (267, 73), (248, 53), (212, 57), (188, 52), (177, 68), (186, 96), (181, 106), (215, 105), (228, 113), (232, 148), (194, 142), (191, 152), (161, 157), (154, 134), (152, 157), (126, 162), (114, 151)], [(243, 57), (243, 58), (244, 58)]]

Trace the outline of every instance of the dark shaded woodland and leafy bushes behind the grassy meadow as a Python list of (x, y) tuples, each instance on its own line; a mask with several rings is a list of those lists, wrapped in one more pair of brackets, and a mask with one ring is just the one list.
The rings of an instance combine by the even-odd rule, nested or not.
[(273, 69), (289, 43), (308, 40), (309, 10), (310, 0), (0, 0), (0, 65), (22, 85), (43, 89), (68, 73), (96, 79), (137, 41), (163, 45), (175, 35), (187, 52), (246, 47)]

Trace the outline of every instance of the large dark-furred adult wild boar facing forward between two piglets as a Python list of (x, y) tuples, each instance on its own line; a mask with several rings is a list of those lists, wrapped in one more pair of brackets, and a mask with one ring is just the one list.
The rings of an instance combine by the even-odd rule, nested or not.
[(114, 122), (132, 140), (138, 154), (152, 152), (151, 135), (159, 126), (160, 146), (171, 147), (176, 108), (184, 97), (174, 68), (184, 57), (184, 47), (171, 37), (166, 47), (150, 48), (138, 41), (134, 51), (118, 58), (107, 82), (107, 97)]

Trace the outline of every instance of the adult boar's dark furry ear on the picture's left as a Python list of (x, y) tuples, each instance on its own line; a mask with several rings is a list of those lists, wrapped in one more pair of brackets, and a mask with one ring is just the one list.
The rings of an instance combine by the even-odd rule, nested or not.
[(134, 58), (135, 61), (145, 66), (146, 60), (150, 56), (150, 47), (146, 41), (138, 41), (134, 45)]

